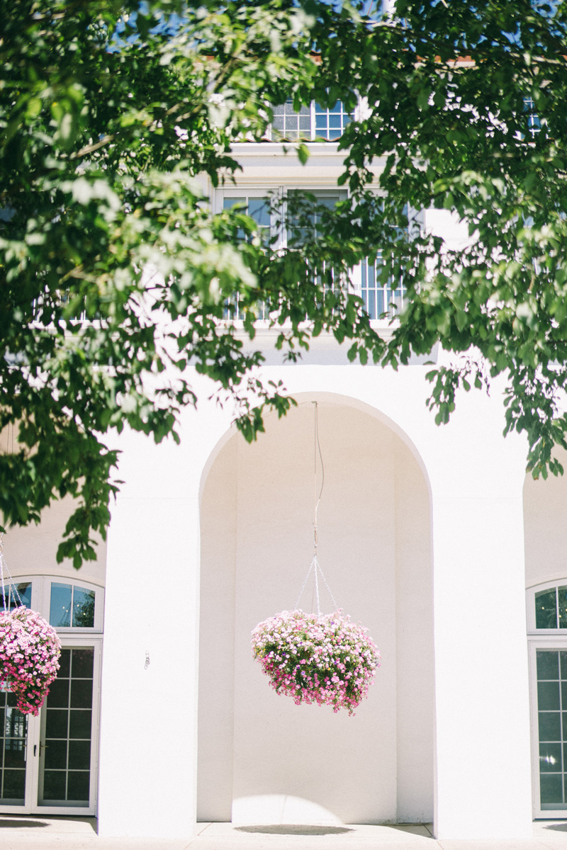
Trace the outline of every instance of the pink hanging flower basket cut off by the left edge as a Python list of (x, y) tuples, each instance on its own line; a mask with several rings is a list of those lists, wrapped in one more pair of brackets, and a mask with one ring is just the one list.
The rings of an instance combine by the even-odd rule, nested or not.
[(61, 643), (37, 611), (0, 612), (0, 685), (8, 685), (22, 714), (37, 717), (59, 670)]

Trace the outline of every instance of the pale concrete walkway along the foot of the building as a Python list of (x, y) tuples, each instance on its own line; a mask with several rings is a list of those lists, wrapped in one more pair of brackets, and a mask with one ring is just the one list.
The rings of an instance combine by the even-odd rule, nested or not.
[(431, 825), (199, 824), (196, 836), (99, 838), (94, 818), (0, 815), (1, 850), (567, 850), (567, 822), (540, 820), (524, 841), (435, 841)]

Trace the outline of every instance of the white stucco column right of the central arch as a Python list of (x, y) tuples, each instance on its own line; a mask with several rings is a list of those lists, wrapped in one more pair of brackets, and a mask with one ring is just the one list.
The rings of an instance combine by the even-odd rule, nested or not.
[(498, 434), (432, 477), (441, 839), (531, 835), (524, 457)]

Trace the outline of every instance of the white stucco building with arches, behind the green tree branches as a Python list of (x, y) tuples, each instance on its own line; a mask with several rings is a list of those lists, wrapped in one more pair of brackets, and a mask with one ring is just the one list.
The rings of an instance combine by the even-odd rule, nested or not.
[[(238, 156), (217, 208), (275, 188), (337, 194), (332, 141), (305, 167), (273, 142)], [(449, 213), (423, 218), (462, 238)], [(526, 477), (497, 385), (463, 395), (438, 428), (430, 366), (349, 364), (323, 337), (282, 365), (273, 333), (258, 328), (262, 374), (298, 407), (268, 416), (256, 443), (196, 375), (180, 447), (118, 441), (125, 484), (96, 563), (56, 563), (65, 503), (5, 537), (20, 595), (62, 624), (65, 652), (40, 717), (26, 728), (7, 708), (0, 812), (96, 814), (105, 836), (230, 819), (530, 836), (533, 818), (567, 814), (567, 479)], [(314, 401), (320, 563), (383, 656), (354, 717), (277, 696), (250, 650), (309, 567)]]

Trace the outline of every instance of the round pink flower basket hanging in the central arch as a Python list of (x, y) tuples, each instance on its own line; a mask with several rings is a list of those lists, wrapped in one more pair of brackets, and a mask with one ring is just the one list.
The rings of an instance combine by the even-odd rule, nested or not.
[(276, 694), (292, 696), (296, 705), (316, 702), (354, 714), (380, 666), (380, 653), (367, 632), (341, 610), (325, 615), (281, 611), (258, 623), (252, 652)]

